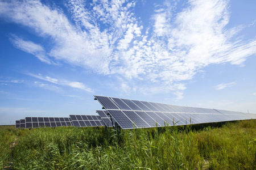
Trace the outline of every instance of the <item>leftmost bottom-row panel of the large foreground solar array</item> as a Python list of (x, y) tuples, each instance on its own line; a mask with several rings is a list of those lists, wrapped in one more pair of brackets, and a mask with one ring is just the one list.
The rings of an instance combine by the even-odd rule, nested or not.
[(108, 110), (108, 111), (115, 118), (115, 120), (121, 126), (122, 129), (134, 128), (133, 122), (131, 122), (129, 118), (127, 118), (125, 114), (123, 114), (121, 111), (113, 111), (113, 110)]

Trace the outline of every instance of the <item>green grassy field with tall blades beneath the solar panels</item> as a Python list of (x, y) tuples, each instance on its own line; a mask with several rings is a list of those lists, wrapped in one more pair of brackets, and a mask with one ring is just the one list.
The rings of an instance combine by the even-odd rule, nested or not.
[(3, 169), (256, 169), (256, 120), (212, 128), (0, 126)]

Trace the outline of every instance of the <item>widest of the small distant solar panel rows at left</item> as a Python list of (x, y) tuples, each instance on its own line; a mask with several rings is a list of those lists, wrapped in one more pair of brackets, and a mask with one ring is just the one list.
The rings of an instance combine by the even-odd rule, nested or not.
[(20, 126), (20, 128), (73, 126), (69, 117), (26, 117), (24, 120), (25, 126)]

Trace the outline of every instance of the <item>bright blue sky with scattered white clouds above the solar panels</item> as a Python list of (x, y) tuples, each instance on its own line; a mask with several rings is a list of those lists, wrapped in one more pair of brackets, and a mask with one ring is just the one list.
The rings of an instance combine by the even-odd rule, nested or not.
[(256, 1), (0, 1), (0, 125), (93, 95), (256, 113)]

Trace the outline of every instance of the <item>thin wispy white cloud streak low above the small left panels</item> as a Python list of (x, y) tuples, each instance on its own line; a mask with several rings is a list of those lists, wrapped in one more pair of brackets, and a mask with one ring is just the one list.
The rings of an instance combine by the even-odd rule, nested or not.
[[(65, 80), (65, 79), (51, 78), (50, 76), (43, 76), (42, 74), (27, 73), (27, 75), (33, 76), (33, 77), (41, 79), (41, 80), (45, 80), (47, 82), (58, 84), (58, 85), (61, 85), (61, 86), (69, 86), (69, 87), (73, 87), (73, 88), (79, 88), (79, 89), (87, 91), (87, 92), (93, 92), (93, 90), (86, 87), (84, 83), (70, 82), (70, 81)], [(40, 86), (40, 87), (47, 88), (48, 90), (53, 90), (53, 91), (56, 91), (56, 90), (59, 91), (60, 90), (59, 87), (50, 86), (49, 84), (44, 84), (44, 83), (40, 83), (40, 82), (35, 82), (35, 84)]]

